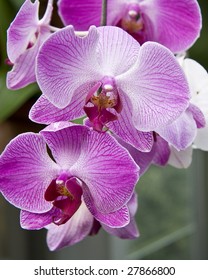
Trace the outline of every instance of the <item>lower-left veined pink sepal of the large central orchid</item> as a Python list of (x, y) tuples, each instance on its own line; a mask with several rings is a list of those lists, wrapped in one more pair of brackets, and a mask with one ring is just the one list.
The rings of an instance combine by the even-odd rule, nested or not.
[(75, 91), (70, 104), (63, 109), (57, 108), (48, 101), (45, 95), (42, 95), (31, 108), (29, 118), (37, 123), (50, 124), (83, 117), (85, 115), (83, 110), (85, 105), (83, 96), (86, 96), (86, 92), (88, 92), (91, 87), (91, 84), (80, 86)]

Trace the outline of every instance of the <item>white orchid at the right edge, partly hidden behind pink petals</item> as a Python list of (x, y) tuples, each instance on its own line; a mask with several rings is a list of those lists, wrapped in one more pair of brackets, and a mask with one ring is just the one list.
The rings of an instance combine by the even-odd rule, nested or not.
[[(191, 164), (192, 148), (208, 151), (208, 73), (193, 59), (181, 56), (178, 60), (187, 76), (191, 90), (189, 108), (194, 108), (198, 121), (195, 138), (185, 151), (177, 151), (171, 147), (169, 164), (178, 168), (187, 168)], [(203, 114), (204, 119), (202, 116), (199, 117), (200, 114)]]

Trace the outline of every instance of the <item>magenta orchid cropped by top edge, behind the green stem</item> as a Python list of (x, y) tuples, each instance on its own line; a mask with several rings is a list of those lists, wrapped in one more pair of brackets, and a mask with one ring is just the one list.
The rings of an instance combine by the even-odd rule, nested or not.
[[(59, 0), (65, 25), (87, 30), (101, 22), (102, 1)], [(141, 44), (156, 41), (173, 52), (190, 48), (199, 37), (201, 12), (196, 0), (108, 0), (107, 25), (128, 31)]]

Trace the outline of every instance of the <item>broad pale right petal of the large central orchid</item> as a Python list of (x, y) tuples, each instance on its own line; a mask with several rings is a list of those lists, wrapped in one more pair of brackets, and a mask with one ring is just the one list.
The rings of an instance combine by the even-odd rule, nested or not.
[(173, 54), (154, 42), (142, 45), (134, 67), (116, 77), (132, 104), (134, 126), (153, 131), (179, 117), (188, 107), (189, 87)]

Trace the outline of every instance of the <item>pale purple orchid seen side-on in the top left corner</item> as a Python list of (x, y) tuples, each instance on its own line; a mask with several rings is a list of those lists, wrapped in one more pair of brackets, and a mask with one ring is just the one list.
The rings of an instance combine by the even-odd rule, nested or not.
[(19, 89), (36, 81), (35, 59), (42, 43), (50, 35), (49, 22), (53, 0), (48, 0), (45, 15), (39, 20), (39, 1), (26, 0), (7, 32), (7, 87)]

